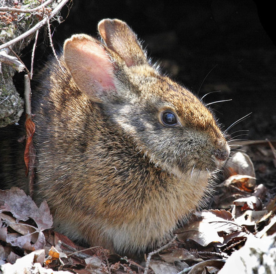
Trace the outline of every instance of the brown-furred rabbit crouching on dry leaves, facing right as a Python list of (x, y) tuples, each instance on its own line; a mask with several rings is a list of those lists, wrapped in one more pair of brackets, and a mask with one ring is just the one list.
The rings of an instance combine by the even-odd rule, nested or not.
[(130, 27), (73, 35), (34, 92), (35, 198), (72, 240), (142, 254), (210, 192), (230, 148), (212, 112), (147, 58)]

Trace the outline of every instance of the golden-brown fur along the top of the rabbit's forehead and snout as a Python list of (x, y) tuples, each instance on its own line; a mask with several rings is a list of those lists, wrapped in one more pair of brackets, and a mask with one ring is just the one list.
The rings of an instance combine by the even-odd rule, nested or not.
[(157, 74), (149, 66), (136, 66), (131, 70), (130, 81), (140, 90), (138, 100), (164, 110), (175, 110), (183, 125), (198, 130), (212, 131), (221, 135), (215, 119), (204, 104), (189, 90), (180, 86), (167, 76)]

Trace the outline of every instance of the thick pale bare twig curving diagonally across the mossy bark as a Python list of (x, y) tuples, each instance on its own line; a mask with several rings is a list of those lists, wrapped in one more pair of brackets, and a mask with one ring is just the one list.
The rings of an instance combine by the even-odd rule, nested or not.
[(11, 45), (19, 42), (20, 40), (28, 37), (29, 35), (31, 35), (32, 33), (36, 32), (37, 30), (39, 30), (42, 26), (44, 26), (45, 24), (47, 24), (47, 21), (52, 19), (61, 9), (62, 7), (68, 2), (69, 0), (62, 0), (59, 5), (52, 11), (52, 13), (48, 16), (45, 17), (43, 20), (41, 20), (37, 25), (35, 25), (33, 28), (31, 28), (29, 31), (25, 32), (24, 34), (16, 37), (15, 39), (3, 44), (0, 46), (0, 50), (4, 49), (4, 48), (8, 48)]

